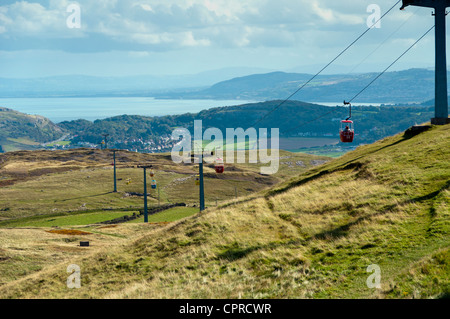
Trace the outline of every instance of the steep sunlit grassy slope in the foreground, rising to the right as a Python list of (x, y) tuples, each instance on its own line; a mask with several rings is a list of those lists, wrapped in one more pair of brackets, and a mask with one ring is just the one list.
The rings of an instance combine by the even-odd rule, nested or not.
[[(120, 245), (93, 237), (83, 255), (69, 238), (65, 249), (75, 255), (0, 286), (0, 297), (448, 297), (449, 143), (448, 125), (407, 132), (238, 202), (132, 228), (140, 237)], [(62, 249), (56, 240), (68, 238), (33, 231), (42, 234), (37, 245), (54, 238), (55, 251)], [(4, 258), (18, 258), (2, 248)], [(69, 263), (81, 267), (80, 289), (66, 287)], [(373, 264), (381, 269), (381, 289), (366, 285)]]

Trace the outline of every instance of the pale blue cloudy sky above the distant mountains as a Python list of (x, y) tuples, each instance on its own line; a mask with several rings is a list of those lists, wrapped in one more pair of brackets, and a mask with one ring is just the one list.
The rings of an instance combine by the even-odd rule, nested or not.
[[(0, 77), (315, 73), (396, 2), (0, 0)], [(381, 72), (434, 24), (431, 9), (400, 6), (326, 73)], [(392, 70), (433, 66), (430, 32)]]

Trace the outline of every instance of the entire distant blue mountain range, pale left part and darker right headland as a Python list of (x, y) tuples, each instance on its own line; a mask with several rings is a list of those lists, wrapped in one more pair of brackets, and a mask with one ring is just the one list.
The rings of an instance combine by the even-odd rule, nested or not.
[[(378, 73), (320, 75), (293, 99), (323, 103), (349, 100), (377, 75)], [(311, 77), (311, 74), (306, 73), (267, 73), (264, 69), (231, 68), (195, 75), (0, 78), (0, 96), (142, 96), (164, 99), (268, 101), (287, 98)], [(409, 69), (387, 72), (354, 102), (422, 103), (432, 98), (434, 71)]]

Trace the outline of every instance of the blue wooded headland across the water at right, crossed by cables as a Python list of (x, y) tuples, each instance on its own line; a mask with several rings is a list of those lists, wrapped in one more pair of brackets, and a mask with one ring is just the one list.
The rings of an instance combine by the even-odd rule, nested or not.
[[(349, 100), (378, 73), (320, 75), (294, 98), (310, 102)], [(290, 96), (311, 74), (272, 72), (219, 82), (210, 88), (158, 95), (166, 98), (277, 100)], [(409, 69), (387, 72), (358, 97), (359, 103), (416, 103), (434, 96), (434, 71)]]

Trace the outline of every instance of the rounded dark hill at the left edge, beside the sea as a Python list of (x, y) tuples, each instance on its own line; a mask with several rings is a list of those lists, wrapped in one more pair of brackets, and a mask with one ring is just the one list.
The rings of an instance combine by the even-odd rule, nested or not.
[(63, 134), (60, 127), (43, 116), (0, 107), (0, 152), (36, 149)]

